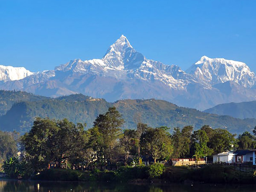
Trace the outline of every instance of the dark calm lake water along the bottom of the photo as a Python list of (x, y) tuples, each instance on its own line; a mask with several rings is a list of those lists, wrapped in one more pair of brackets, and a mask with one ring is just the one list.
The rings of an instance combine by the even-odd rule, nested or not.
[(197, 184), (134, 185), (85, 182), (34, 182), (0, 180), (0, 192), (256, 192), (256, 186)]

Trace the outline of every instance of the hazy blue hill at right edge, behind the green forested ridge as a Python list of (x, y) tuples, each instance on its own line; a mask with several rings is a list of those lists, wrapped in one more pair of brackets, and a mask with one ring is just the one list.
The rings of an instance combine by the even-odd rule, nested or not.
[(240, 119), (256, 118), (256, 101), (220, 104), (213, 108), (206, 109), (204, 112), (228, 115)]

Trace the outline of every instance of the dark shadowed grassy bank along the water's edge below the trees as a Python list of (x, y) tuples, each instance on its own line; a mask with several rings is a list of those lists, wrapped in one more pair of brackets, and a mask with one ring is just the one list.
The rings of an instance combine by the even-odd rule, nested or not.
[(36, 180), (53, 181), (122, 181), (122, 182), (191, 182), (241, 183), (256, 182), (253, 173), (243, 172), (231, 166), (208, 165), (202, 168), (166, 166), (159, 177), (150, 177), (148, 166), (121, 167), (115, 171), (82, 172), (70, 169), (50, 169), (33, 177)]

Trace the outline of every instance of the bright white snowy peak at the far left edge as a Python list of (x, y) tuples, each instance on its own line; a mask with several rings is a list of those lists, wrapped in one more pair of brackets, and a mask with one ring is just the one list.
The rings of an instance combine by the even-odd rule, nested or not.
[(24, 67), (0, 65), (0, 81), (20, 80), (33, 74), (33, 72), (30, 72)]

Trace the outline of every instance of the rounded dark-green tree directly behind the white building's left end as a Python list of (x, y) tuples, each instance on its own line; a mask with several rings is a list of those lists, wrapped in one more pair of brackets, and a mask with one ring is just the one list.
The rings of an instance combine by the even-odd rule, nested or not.
[(236, 145), (235, 135), (225, 129), (214, 129), (211, 144), (214, 154), (231, 150)]

